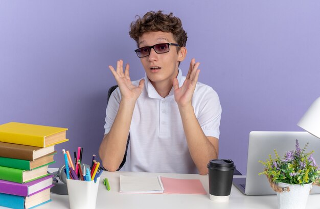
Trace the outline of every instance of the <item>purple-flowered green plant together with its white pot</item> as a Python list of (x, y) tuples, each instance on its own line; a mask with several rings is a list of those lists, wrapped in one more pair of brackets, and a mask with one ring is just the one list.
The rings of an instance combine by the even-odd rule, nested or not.
[(312, 185), (318, 184), (319, 167), (313, 159), (313, 151), (306, 152), (306, 147), (299, 147), (295, 141), (295, 150), (285, 153), (283, 158), (275, 151), (276, 158), (259, 161), (265, 166), (263, 172), (271, 188), (277, 192), (279, 209), (305, 208)]

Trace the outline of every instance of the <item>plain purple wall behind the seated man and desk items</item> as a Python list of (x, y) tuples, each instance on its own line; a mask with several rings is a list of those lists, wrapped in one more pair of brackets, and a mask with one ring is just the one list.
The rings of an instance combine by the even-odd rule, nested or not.
[(1, 1), (0, 123), (69, 128), (61, 149), (98, 154), (108, 65), (130, 63), (144, 75), (128, 35), (135, 15), (173, 12), (188, 33), (189, 62), (220, 96), (220, 158), (246, 173), (252, 130), (302, 130), (296, 125), (319, 96), (320, 2), (314, 1)]

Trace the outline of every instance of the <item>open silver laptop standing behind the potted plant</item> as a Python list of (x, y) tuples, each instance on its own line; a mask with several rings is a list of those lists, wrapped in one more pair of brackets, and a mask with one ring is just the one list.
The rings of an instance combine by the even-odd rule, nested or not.
[[(306, 152), (314, 150), (313, 158), (320, 165), (320, 139), (308, 132), (250, 132), (246, 178), (233, 178), (233, 184), (246, 195), (275, 195), (265, 175), (258, 175), (264, 170), (259, 160), (266, 161), (271, 154), (275, 158), (274, 149), (279, 156), (295, 150), (298, 139), (302, 149), (309, 142)], [(314, 186), (311, 194), (320, 194), (320, 187)]]

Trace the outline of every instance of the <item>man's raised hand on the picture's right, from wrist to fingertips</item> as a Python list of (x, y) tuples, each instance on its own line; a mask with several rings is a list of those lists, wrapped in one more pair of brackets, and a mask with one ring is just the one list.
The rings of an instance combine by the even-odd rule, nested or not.
[(192, 96), (196, 88), (200, 70), (198, 69), (200, 63), (195, 62), (193, 58), (190, 62), (189, 71), (184, 84), (179, 88), (178, 80), (173, 80), (174, 99), (180, 107), (188, 107), (192, 105)]

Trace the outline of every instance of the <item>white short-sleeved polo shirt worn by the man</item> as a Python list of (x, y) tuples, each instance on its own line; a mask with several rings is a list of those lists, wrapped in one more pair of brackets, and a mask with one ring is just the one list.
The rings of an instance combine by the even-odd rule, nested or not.
[[(121, 171), (198, 173), (188, 149), (174, 89), (163, 98), (147, 75), (144, 79), (145, 88), (135, 103), (127, 159)], [(180, 69), (177, 79), (179, 87), (186, 80)], [(138, 86), (139, 81), (132, 84)], [(121, 93), (117, 88), (106, 109), (105, 134), (109, 133), (115, 120), (120, 100)], [(210, 86), (198, 82), (192, 106), (204, 135), (219, 138), (221, 106), (218, 94)]]

